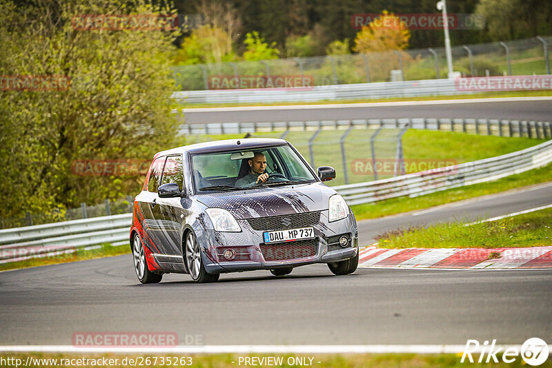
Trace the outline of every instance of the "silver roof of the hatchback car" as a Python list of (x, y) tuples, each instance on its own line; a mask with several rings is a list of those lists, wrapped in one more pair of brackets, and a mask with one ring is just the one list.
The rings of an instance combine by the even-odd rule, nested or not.
[(224, 141), (210, 141), (204, 143), (195, 143), (193, 145), (183, 145), (182, 147), (172, 148), (157, 152), (155, 157), (167, 156), (170, 154), (183, 154), (190, 152), (190, 154), (197, 153), (211, 153), (220, 152), (226, 150), (250, 150), (253, 148), (269, 147), (273, 145), (286, 145), (287, 141), (284, 139), (274, 138), (239, 138), (239, 139), (225, 139)]

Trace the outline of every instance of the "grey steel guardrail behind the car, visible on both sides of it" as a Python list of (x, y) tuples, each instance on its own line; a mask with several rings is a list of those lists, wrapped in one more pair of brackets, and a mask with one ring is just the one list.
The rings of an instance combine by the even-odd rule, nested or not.
[[(334, 187), (349, 205), (421, 196), (518, 174), (552, 162), (552, 140), (502, 156), (394, 178)], [(128, 244), (132, 214), (0, 230), (0, 263), (74, 252), (103, 243)]]

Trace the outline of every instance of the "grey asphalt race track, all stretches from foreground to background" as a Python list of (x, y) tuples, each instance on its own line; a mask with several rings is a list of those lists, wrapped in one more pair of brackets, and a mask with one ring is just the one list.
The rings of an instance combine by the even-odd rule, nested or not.
[[(352, 110), (278, 110), (188, 119), (506, 117), (551, 119), (551, 101), (414, 105)], [(356, 109), (356, 110), (355, 110)], [(348, 114), (348, 115), (347, 115)], [(387, 114), (384, 116), (384, 114)], [(306, 117), (308, 115), (308, 118)], [(338, 116), (339, 115), (339, 116)], [(201, 118), (201, 119), (200, 119)], [(239, 119), (238, 119), (239, 118)], [(359, 222), (362, 245), (388, 229), (453, 218), (470, 221), (552, 203), (552, 183)], [(333, 276), (326, 265), (222, 275), (196, 285), (169, 274), (141, 285), (132, 256), (0, 272), (0, 345), (72, 345), (86, 331), (171, 331), (200, 345), (457, 344), (552, 340), (552, 270), (359, 268)]]

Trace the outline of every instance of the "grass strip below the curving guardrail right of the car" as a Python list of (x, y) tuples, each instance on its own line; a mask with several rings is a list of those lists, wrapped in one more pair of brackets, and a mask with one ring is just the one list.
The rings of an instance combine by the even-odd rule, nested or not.
[(390, 216), (411, 212), (437, 205), (444, 205), (464, 199), (475, 198), (477, 196), (485, 196), (498, 192), (505, 192), (516, 188), (526, 187), (538, 183), (546, 183), (552, 181), (552, 163), (539, 169), (529, 170), (521, 174), (506, 176), (497, 181), (489, 183), (480, 183), (469, 185), (466, 187), (457, 187), (442, 192), (426, 194), (414, 198), (400, 197), (392, 198), (386, 201), (376, 203), (366, 203), (364, 205), (354, 205), (351, 208), (358, 220), (367, 218), (378, 218), (382, 216)]

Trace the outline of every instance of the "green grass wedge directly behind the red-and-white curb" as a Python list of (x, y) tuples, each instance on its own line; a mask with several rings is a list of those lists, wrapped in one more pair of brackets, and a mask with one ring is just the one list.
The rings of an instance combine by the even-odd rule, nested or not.
[(552, 245), (552, 209), (502, 218), (497, 221), (438, 223), (427, 228), (382, 234), (386, 248), (503, 248)]

